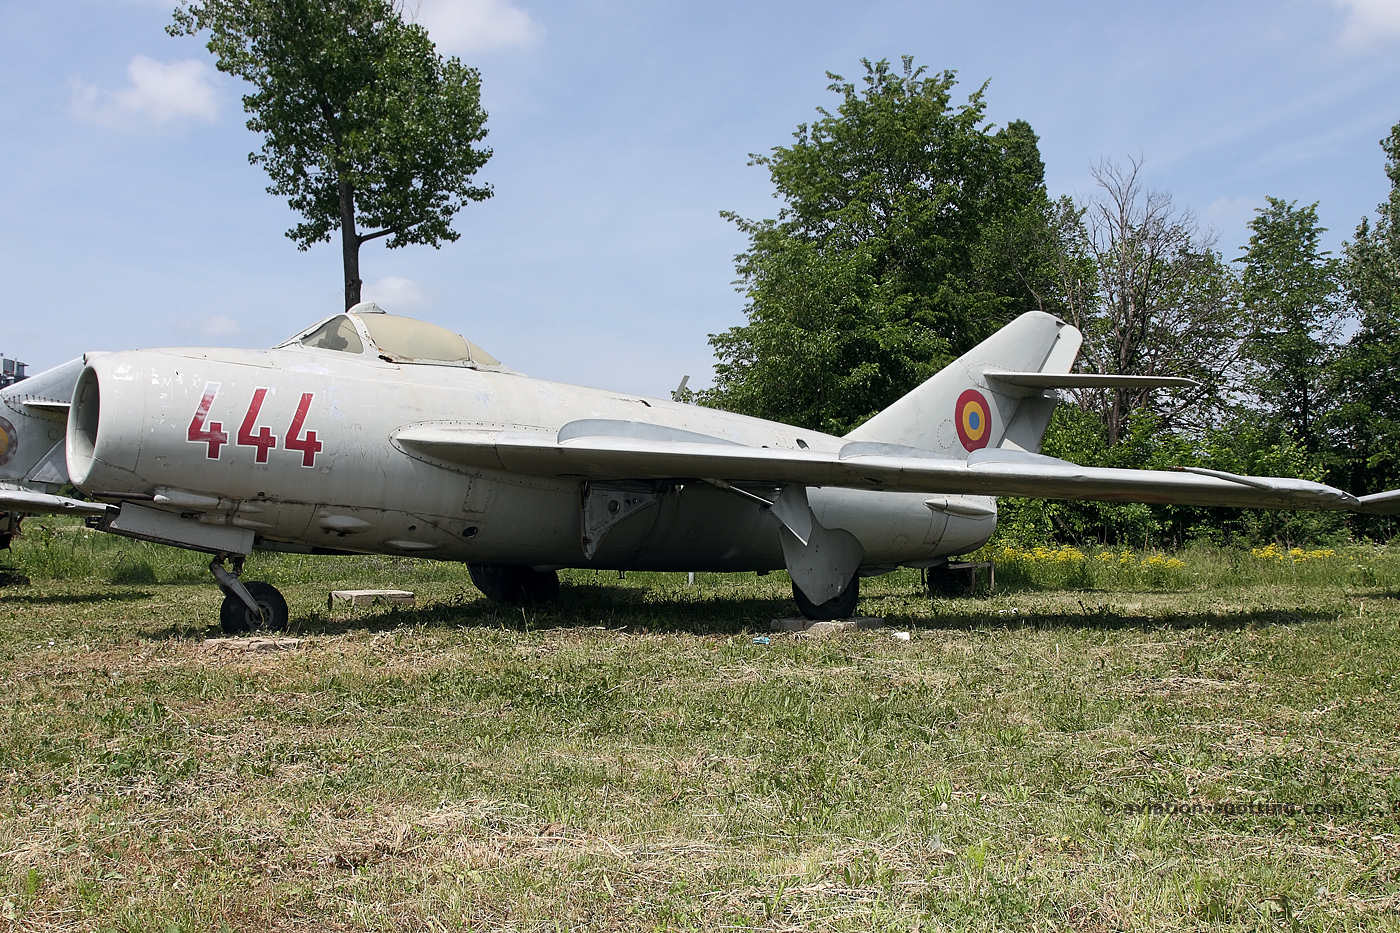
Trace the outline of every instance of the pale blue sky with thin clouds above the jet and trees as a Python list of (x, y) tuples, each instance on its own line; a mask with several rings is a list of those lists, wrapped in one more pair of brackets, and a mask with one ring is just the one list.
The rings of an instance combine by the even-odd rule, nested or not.
[[(248, 164), (239, 84), (162, 27), (169, 0), (0, 4), (0, 353), (269, 346), (340, 307), (339, 248), (298, 252)], [(743, 319), (720, 217), (778, 203), (748, 154), (791, 140), (826, 71), (913, 55), (990, 80), (1040, 136), (1051, 193), (1103, 158), (1214, 227), (1320, 202), (1340, 249), (1386, 196), (1400, 0), (661, 3), (409, 0), (480, 69), (496, 196), (441, 249), (361, 254), (367, 297), (539, 377), (664, 395)]]

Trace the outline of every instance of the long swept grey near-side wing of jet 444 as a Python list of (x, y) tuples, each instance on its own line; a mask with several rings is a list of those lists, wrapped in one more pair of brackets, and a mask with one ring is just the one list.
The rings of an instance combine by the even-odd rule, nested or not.
[(1305, 479), (1236, 476), (1194, 468), (1168, 472), (1079, 466), (1002, 448), (973, 451), (966, 461), (869, 441), (848, 441), (834, 451), (777, 450), (641, 422), (602, 419), (571, 422), (557, 436), (452, 423), (413, 424), (396, 431), (393, 443), (406, 454), (430, 462), (570, 479), (720, 479), (1032, 499), (1372, 510), (1350, 493)]

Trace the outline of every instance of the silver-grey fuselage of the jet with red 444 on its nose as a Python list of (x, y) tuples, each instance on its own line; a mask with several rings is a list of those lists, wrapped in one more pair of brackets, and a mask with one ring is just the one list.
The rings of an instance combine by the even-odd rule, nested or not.
[[(748, 447), (837, 451), (843, 440), (675, 401), (564, 385), (494, 368), (400, 361), (297, 343), (270, 350), (164, 349), (88, 361), (74, 392), (67, 464), (90, 496), (150, 503), (256, 546), (393, 553), (491, 565), (637, 570), (777, 570), (766, 509), (703, 478), (651, 486), (652, 507), (585, 556), (578, 476), (440, 461), (396, 443), (431, 423), (539, 433), (613, 419)], [(815, 518), (864, 546), (865, 570), (979, 546), (986, 514), (923, 493), (813, 488)]]

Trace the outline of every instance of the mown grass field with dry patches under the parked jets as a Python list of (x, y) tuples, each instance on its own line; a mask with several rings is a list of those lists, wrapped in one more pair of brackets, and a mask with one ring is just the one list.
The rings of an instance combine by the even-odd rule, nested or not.
[[(255, 556), (302, 640), (245, 651), (197, 558), (28, 530), (0, 926), (1400, 929), (1396, 551), (995, 551), (830, 639), (769, 633), (783, 574), (512, 611)], [(417, 608), (326, 611), (381, 586)]]

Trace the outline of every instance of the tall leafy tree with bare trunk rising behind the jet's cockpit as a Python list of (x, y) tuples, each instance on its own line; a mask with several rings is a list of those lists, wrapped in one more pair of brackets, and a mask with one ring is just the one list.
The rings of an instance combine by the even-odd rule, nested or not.
[(480, 76), (444, 60), (393, 0), (183, 0), (171, 35), (210, 32), (220, 71), (253, 85), (249, 161), (302, 223), (300, 249), (340, 231), (346, 307), (360, 301), (360, 245), (455, 241), (452, 217), (491, 196)]

